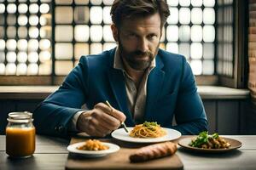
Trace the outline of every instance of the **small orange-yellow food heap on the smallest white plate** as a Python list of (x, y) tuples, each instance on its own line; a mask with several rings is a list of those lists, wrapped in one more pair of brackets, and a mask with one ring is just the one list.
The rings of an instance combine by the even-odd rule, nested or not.
[(109, 147), (102, 144), (100, 140), (89, 139), (83, 145), (77, 147), (78, 150), (108, 150)]

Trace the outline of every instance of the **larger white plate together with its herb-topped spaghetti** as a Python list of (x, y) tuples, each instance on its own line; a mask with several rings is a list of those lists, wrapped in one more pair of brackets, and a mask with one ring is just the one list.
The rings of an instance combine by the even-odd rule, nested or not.
[(135, 127), (119, 128), (111, 133), (114, 139), (133, 143), (158, 143), (178, 139), (181, 133), (172, 128), (160, 127), (157, 122), (144, 122)]

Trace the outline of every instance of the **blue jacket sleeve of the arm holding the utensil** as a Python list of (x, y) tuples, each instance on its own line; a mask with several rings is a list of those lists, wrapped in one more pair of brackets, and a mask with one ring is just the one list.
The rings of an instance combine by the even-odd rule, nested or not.
[(61, 87), (38, 105), (33, 113), (37, 133), (67, 137), (75, 113), (82, 111), (88, 91), (87, 59), (71, 71)]

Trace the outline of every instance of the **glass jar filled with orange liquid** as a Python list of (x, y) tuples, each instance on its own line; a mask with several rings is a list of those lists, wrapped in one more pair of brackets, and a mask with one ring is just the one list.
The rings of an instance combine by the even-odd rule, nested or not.
[(6, 153), (10, 157), (29, 157), (35, 151), (36, 130), (32, 113), (11, 112), (7, 118)]

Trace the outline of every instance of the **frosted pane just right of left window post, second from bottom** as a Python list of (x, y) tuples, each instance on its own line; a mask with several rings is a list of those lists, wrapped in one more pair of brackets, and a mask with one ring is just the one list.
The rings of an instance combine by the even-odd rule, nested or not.
[(72, 43), (56, 43), (55, 59), (72, 59), (73, 45)]

